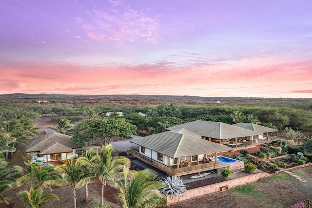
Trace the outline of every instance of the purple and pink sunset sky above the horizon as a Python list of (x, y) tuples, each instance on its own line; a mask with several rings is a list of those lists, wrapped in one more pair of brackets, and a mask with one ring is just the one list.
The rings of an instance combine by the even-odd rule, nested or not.
[(312, 98), (312, 0), (0, 0), (0, 94)]

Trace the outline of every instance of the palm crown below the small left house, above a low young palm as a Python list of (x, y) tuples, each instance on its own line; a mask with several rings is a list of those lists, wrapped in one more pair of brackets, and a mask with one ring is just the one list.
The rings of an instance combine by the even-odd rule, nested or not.
[(61, 180), (59, 174), (53, 172), (54, 168), (50, 166), (39, 168), (38, 164), (29, 164), (27, 169), (29, 172), (17, 180), (18, 187), (28, 184), (33, 188), (43, 188), (49, 187), (48, 181)]

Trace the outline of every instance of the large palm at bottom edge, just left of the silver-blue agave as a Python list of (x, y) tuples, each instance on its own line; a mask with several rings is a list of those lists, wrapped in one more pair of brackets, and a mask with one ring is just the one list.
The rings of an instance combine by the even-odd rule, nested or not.
[(123, 178), (117, 182), (118, 194), (122, 208), (155, 208), (166, 206), (167, 200), (159, 189), (164, 185), (153, 181), (157, 174), (150, 169), (131, 171), (129, 166), (123, 168)]

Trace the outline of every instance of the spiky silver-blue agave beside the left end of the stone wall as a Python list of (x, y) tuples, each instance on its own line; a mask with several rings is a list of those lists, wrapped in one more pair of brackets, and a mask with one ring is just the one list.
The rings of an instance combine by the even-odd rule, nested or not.
[(186, 194), (186, 187), (188, 186), (184, 185), (182, 180), (177, 176), (167, 176), (161, 183), (165, 185), (165, 188), (161, 189), (160, 192), (165, 196), (170, 194), (171, 199), (174, 198), (174, 195), (177, 195), (177, 199), (179, 200), (183, 193)]

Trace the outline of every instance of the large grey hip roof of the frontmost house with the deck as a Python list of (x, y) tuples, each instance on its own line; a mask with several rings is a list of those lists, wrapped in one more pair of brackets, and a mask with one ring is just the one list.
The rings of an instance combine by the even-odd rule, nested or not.
[(185, 133), (171, 131), (133, 139), (130, 142), (172, 158), (233, 150), (233, 148)]

